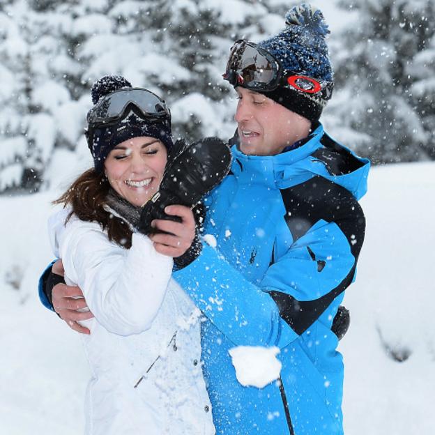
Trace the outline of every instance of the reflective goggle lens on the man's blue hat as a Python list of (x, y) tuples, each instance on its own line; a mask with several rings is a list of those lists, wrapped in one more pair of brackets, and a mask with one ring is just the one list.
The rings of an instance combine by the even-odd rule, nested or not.
[(225, 75), (231, 84), (262, 88), (276, 79), (277, 64), (256, 47), (243, 45), (231, 53)]

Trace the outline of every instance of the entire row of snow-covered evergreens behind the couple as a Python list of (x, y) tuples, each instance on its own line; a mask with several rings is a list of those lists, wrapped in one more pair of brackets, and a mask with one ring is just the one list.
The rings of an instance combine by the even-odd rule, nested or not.
[[(435, 1), (313, 3), (331, 29), (328, 130), (376, 163), (434, 160)], [(0, 194), (45, 190), (54, 166), (87, 153), (84, 114), (102, 75), (162, 93), (176, 136), (230, 137), (229, 47), (276, 34), (293, 4), (0, 0)]]

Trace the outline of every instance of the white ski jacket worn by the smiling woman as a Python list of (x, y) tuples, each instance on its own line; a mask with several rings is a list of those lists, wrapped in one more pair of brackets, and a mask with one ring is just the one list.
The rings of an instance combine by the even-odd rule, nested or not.
[(49, 220), (69, 284), (95, 318), (82, 335), (92, 378), (86, 435), (215, 434), (201, 371), (199, 310), (171, 278), (173, 261), (133, 234), (130, 250), (70, 210)]

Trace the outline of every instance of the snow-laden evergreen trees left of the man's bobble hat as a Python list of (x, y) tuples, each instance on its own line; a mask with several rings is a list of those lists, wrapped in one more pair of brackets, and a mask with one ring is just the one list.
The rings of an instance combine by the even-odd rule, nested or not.
[(176, 137), (230, 137), (236, 102), (222, 80), (229, 48), (276, 33), (289, 8), (284, 0), (0, 6), (0, 193), (38, 190), (89, 154), (82, 134), (89, 89), (102, 75), (124, 75), (164, 96)]

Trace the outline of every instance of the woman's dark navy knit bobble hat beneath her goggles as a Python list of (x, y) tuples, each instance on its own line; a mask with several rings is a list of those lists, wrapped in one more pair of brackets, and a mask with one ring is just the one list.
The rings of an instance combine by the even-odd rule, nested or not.
[[(131, 88), (128, 80), (120, 75), (106, 75), (95, 82), (91, 88), (93, 105), (96, 105), (100, 98), (103, 98), (119, 89)], [(92, 110), (92, 109), (91, 109)], [(147, 121), (129, 112), (124, 119), (118, 123), (96, 128), (93, 133), (92, 144), (89, 144), (93, 157), (94, 167), (97, 172), (102, 172), (104, 162), (110, 151), (125, 140), (133, 137), (149, 136), (159, 139), (169, 150), (172, 146), (171, 123), (169, 119), (162, 121)]]

